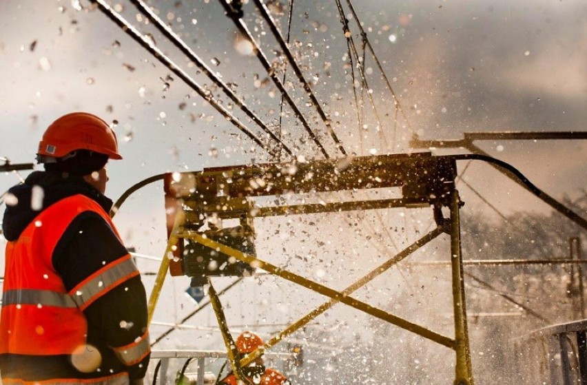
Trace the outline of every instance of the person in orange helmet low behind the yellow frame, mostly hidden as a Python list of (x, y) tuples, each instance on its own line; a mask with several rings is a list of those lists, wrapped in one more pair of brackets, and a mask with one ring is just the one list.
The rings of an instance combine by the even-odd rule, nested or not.
[[(263, 345), (261, 337), (250, 331), (241, 333), (235, 341), (236, 350), (238, 351), (238, 360), (245, 357), (245, 355), (252, 353), (259, 346)], [(248, 382), (254, 385), (289, 385), (289, 381), (278, 371), (270, 368), (265, 368), (261, 357), (256, 358), (251, 364), (241, 369)], [(220, 377), (220, 376), (218, 376)], [(234, 373), (229, 373), (223, 379), (220, 379), (219, 385), (244, 385), (247, 382), (236, 379)]]

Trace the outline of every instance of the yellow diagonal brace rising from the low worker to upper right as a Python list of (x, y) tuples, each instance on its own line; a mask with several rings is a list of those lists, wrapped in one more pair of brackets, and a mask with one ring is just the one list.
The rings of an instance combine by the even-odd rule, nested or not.
[[(444, 227), (437, 227), (433, 231), (429, 232), (428, 234), (426, 234), (425, 236), (423, 236), (422, 238), (420, 238), (419, 240), (417, 240), (416, 242), (411, 244), (409, 247), (406, 247), (405, 249), (403, 249), (402, 251), (397, 253), (395, 256), (393, 256), (393, 258), (390, 258), (389, 260), (387, 260), (386, 262), (384, 262), (380, 266), (373, 269), (367, 275), (364, 275), (363, 278), (361, 278), (357, 282), (351, 284), (351, 286), (349, 286), (349, 287), (347, 287), (347, 289), (344, 289), (343, 291), (341, 291), (341, 293), (343, 295), (349, 295), (349, 294), (353, 293), (353, 291), (360, 289), (360, 287), (363, 287), (368, 282), (371, 282), (371, 280), (373, 280), (375, 277), (382, 274), (384, 271), (387, 271), (393, 265), (397, 264), (398, 262), (400, 262), (401, 260), (403, 260), (404, 258), (409, 256), (411, 253), (420, 249), (420, 247), (424, 246), (424, 244), (435, 239), (437, 236), (440, 236), (440, 234), (444, 233), (444, 231), (445, 231)], [(286, 329), (280, 331), (280, 333), (278, 333), (276, 336), (271, 337), (271, 339), (269, 341), (265, 342), (265, 344), (263, 344), (263, 346), (260, 346), (255, 351), (249, 353), (249, 355), (247, 355), (247, 357), (240, 360), (240, 366), (247, 366), (248, 364), (253, 362), (257, 357), (260, 357), (267, 349), (271, 348), (271, 346), (274, 346), (275, 344), (280, 342), (283, 338), (287, 337), (291, 333), (294, 333), (294, 331), (300, 329), (302, 326), (305, 326), (306, 324), (308, 324), (309, 322), (314, 320), (316, 317), (318, 317), (318, 315), (324, 313), (325, 311), (327, 311), (328, 309), (330, 309), (332, 306), (334, 306), (337, 303), (338, 303), (338, 301), (336, 301), (336, 300), (330, 300), (329, 302), (325, 302), (324, 304), (321, 304), (316, 309), (314, 309), (313, 311), (311, 311), (307, 315), (300, 318), (300, 320), (294, 322), (293, 324), (289, 325)]]

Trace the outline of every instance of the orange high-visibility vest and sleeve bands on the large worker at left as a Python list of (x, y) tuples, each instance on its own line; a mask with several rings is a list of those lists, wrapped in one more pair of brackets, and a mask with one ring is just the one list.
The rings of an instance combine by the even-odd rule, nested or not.
[[(59, 200), (41, 211), (21, 236), (6, 246), (0, 318), (0, 354), (72, 354), (85, 344), (83, 309), (138, 271), (130, 254), (106, 264), (67, 291), (52, 264), (54, 248), (72, 220), (84, 211), (99, 214), (119, 237), (110, 216), (83, 195)], [(120, 237), (119, 237), (120, 238)], [(80, 250), (83, 258), (83, 250)], [(132, 365), (150, 351), (148, 334), (127, 346), (113, 347)]]

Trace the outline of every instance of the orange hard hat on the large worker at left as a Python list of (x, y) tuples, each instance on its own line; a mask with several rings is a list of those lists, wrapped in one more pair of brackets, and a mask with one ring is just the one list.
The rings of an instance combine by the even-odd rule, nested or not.
[(88, 149), (105, 154), (110, 159), (122, 159), (112, 128), (98, 116), (87, 112), (72, 112), (51, 123), (39, 143), (39, 158), (61, 158), (76, 149)]

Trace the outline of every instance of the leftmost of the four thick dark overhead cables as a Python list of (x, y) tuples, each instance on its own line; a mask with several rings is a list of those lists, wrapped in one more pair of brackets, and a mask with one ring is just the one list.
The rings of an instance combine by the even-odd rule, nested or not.
[(158, 59), (165, 67), (171, 70), (176, 76), (182, 79), (192, 90), (196, 91), (202, 98), (204, 98), (216, 111), (218, 111), (222, 116), (224, 116), (228, 121), (230, 121), (233, 125), (235, 125), (241, 132), (246, 134), (252, 141), (254, 141), (257, 145), (265, 149), (271, 156), (276, 156), (277, 154), (274, 152), (274, 149), (268, 147), (265, 143), (263, 143), (260, 138), (258, 138), (251, 130), (245, 126), (241, 121), (238, 120), (233, 114), (231, 114), (223, 105), (220, 105), (218, 101), (212, 97), (209, 92), (203, 89), (191, 76), (189, 76), (184, 70), (181, 69), (179, 65), (174, 63), (169, 57), (167, 57), (161, 50), (159, 50), (153, 43), (147, 39), (141, 32), (138, 32), (136, 28), (132, 24), (130, 24), (124, 17), (121, 16), (118, 12), (113, 10), (105, 0), (90, 0), (92, 3), (97, 4), (99, 9), (105, 14), (110, 20), (114, 21), (116, 25), (126, 32), (134, 41), (141, 44), (143, 48), (149, 51), (153, 56)]

